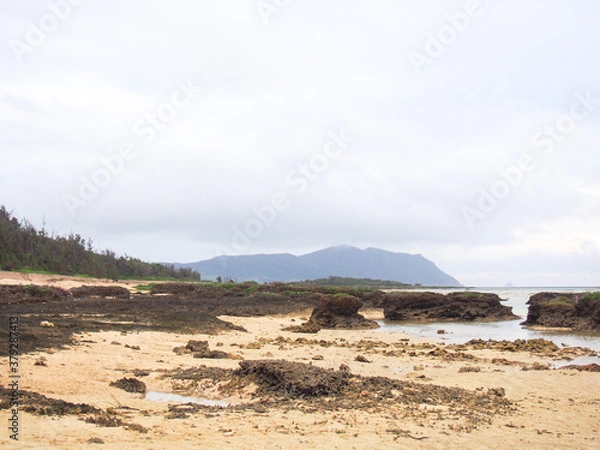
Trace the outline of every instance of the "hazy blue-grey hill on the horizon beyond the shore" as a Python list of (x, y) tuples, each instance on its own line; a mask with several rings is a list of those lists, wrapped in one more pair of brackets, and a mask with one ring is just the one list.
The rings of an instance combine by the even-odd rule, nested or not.
[(305, 281), (330, 276), (372, 278), (424, 286), (461, 286), (422, 255), (393, 253), (377, 248), (330, 247), (302, 256), (289, 253), (218, 256), (205, 261), (176, 264), (202, 274), (235, 281)]

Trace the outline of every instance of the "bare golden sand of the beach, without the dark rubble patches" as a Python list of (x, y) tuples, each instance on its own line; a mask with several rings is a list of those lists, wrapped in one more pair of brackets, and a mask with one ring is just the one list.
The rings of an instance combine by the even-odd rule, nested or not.
[[(52, 284), (44, 276), (29, 277), (23, 284)], [(61, 278), (64, 279), (54, 285), (69, 288), (82, 283), (72, 277)], [(16, 283), (11, 279), (6, 284)], [(85, 284), (93, 283), (85, 280)], [(379, 314), (380, 311), (370, 312), (372, 317)], [(552, 362), (548, 357), (525, 352), (471, 349), (463, 353), (476, 359), (453, 360), (440, 356), (443, 352), (430, 354), (431, 349), (444, 350), (442, 345), (427, 345), (425, 340), (377, 330), (322, 330), (318, 334), (282, 331), (285, 326), (300, 323), (302, 316), (306, 314), (222, 317), (248, 332), (231, 331), (217, 336), (84, 333), (75, 335), (72, 345), (66, 349), (23, 355), (21, 390), (103, 410), (113, 408), (124, 422), (141, 425), (147, 432), (86, 423), (82, 420), (86, 415), (44, 416), (21, 411), (19, 442), (9, 440), (9, 431), (3, 426), (0, 444), (3, 448), (28, 449), (93, 448), (96, 445), (103, 449), (215, 450), (600, 448), (600, 373), (523, 370), (536, 362)], [(299, 338), (303, 339), (298, 341)], [(174, 347), (184, 346), (189, 340), (206, 340), (211, 349), (245, 360), (285, 359), (333, 369), (345, 364), (356, 375), (388, 377), (419, 385), (457, 386), (473, 393), (503, 388), (505, 398), (512, 402), (512, 410), (490, 414), (489, 423), (478, 423), (475, 427), (461, 427), (460, 419), (433, 411), (435, 405), (417, 405), (409, 411), (407, 405), (390, 403), (389, 399), (381, 399), (381, 406), (369, 408), (307, 411), (288, 404), (264, 410), (207, 409), (184, 419), (168, 419), (165, 417), (169, 413), (168, 403), (150, 401), (144, 394), (110, 386), (112, 381), (134, 377), (134, 371), (144, 370), (150, 372), (149, 375), (137, 378), (149, 391), (175, 392), (233, 404), (252, 401), (247, 389), (245, 394), (238, 392), (224, 397), (202, 383), (162, 377), (165, 371), (176, 368), (238, 367), (239, 361), (234, 359), (198, 359), (190, 354), (174, 353)], [(410, 351), (401, 352), (410, 345), (413, 345)], [(358, 355), (370, 363), (356, 361)], [(313, 359), (315, 356), (318, 359)], [(45, 358), (46, 366), (35, 365), (40, 357)], [(512, 365), (508, 364), (510, 361)], [(474, 370), (479, 372), (465, 371), (466, 366), (477, 367)], [(8, 358), (3, 356), (0, 385), (8, 386), (8, 373)], [(368, 391), (363, 394), (366, 398), (376, 395)], [(465, 410), (465, 415), (468, 412)], [(1, 414), (6, 424), (7, 411), (1, 410)], [(90, 439), (103, 444), (91, 443)]]

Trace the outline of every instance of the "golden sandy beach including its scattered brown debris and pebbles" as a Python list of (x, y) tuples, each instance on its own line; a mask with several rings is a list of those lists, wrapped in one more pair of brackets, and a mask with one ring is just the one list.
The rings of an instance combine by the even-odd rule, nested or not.
[[(30, 277), (26, 284), (51, 284), (45, 276)], [(81, 280), (65, 277), (55, 283), (72, 287), (77, 282)], [(5, 284), (15, 284), (14, 279)], [(382, 317), (380, 310), (363, 313), (373, 319)], [(20, 357), (20, 390), (43, 397), (34, 402), (37, 410), (32, 412), (24, 411), (26, 396), (21, 399), (19, 441), (9, 439), (10, 432), (3, 427), (0, 442), (4, 448), (28, 449), (94, 445), (106, 449), (596, 449), (600, 445), (600, 374), (552, 368), (556, 360), (579, 356), (576, 349), (456, 347), (378, 330), (316, 334), (283, 330), (309, 314), (221, 316), (246, 331), (217, 335), (75, 333), (62, 349)], [(228, 357), (197, 358), (181, 349), (174, 351), (190, 341), (206, 341), (211, 350)], [(359, 390), (356, 397), (346, 398), (279, 395), (236, 375), (240, 363), (265, 360), (332, 369), (331, 374), (350, 373), (350, 385)], [(3, 355), (0, 385), (9, 386), (9, 372), (8, 357)], [(186, 373), (197, 376), (181, 376)], [(111, 386), (123, 378), (143, 382), (147, 392)], [(229, 406), (156, 401), (151, 399), (155, 393)], [(44, 399), (86, 404), (95, 411), (48, 414)], [(5, 424), (7, 413), (2, 410)], [(100, 426), (106, 425), (101, 418), (107, 416), (119, 426)]]

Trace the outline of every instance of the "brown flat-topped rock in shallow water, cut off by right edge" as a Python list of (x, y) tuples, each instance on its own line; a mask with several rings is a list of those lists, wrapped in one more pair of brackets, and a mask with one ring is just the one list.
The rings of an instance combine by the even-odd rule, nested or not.
[(527, 302), (522, 325), (571, 330), (600, 330), (600, 293), (541, 292)]

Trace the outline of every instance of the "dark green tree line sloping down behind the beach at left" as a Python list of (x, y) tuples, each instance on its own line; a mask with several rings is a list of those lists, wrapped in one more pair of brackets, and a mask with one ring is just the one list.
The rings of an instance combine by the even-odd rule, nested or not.
[(27, 220), (18, 220), (0, 207), (0, 270), (41, 271), (61, 275), (88, 275), (96, 278), (174, 278), (200, 280), (189, 268), (147, 263), (114, 252), (96, 252), (91, 239), (79, 234), (49, 235)]

